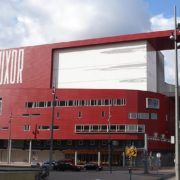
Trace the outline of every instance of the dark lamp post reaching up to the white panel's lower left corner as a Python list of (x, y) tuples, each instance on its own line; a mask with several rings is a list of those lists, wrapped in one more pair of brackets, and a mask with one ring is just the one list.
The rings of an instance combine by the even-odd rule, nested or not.
[(52, 103), (52, 120), (51, 120), (51, 136), (50, 136), (50, 150), (49, 150), (49, 166), (52, 167), (52, 156), (53, 156), (53, 142), (54, 142), (54, 108), (56, 105), (56, 89), (53, 87), (53, 103)]

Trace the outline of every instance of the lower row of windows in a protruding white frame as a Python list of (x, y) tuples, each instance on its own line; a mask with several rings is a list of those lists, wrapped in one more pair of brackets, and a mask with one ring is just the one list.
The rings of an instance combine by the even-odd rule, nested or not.
[(144, 124), (85, 124), (75, 125), (75, 133), (144, 133)]

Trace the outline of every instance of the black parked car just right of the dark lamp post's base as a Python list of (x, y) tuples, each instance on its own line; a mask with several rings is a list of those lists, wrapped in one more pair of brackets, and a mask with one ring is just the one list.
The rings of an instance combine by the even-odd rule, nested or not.
[(79, 166), (75, 166), (72, 163), (64, 162), (64, 161), (58, 161), (56, 168), (59, 171), (66, 171), (66, 170), (80, 171), (81, 170)]

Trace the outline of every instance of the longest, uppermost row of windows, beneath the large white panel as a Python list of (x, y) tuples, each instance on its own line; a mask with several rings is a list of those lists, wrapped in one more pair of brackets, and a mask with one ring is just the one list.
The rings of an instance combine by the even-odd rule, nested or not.
[[(126, 99), (55, 100), (55, 106), (125, 106)], [(52, 107), (53, 101), (26, 102), (26, 108)]]

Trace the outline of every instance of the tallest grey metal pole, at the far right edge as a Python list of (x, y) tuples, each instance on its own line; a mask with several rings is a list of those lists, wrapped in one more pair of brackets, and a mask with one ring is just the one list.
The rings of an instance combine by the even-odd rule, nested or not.
[(174, 6), (174, 50), (175, 50), (175, 172), (176, 180), (180, 180), (180, 157), (179, 157), (179, 88), (178, 88), (178, 52), (177, 52), (177, 20), (176, 6)]

